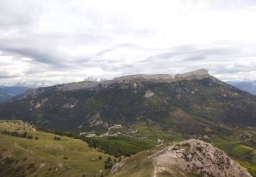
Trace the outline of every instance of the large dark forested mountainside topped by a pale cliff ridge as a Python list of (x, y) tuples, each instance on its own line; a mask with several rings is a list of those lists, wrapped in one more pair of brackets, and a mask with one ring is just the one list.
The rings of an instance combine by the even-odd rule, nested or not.
[(175, 76), (134, 75), (30, 89), (2, 103), (0, 117), (98, 135), (117, 124), (122, 133), (150, 140), (216, 134), (245, 140), (254, 134), (234, 134), (234, 129), (256, 125), (256, 97), (199, 69)]

